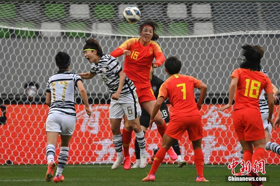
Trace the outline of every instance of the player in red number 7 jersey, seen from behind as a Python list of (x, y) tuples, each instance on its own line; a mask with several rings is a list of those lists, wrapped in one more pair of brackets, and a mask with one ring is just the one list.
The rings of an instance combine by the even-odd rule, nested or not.
[[(173, 114), (163, 136), (161, 148), (155, 155), (152, 168), (148, 176), (142, 181), (155, 181), (155, 173), (163, 161), (166, 151), (176, 139), (180, 140), (182, 138), (186, 130), (194, 148), (194, 164), (198, 175), (196, 181), (207, 181), (203, 176), (204, 154), (201, 149), (203, 128), (199, 112), (207, 92), (207, 86), (191, 76), (178, 74), (182, 65), (176, 57), (166, 59), (164, 67), (169, 78), (160, 87), (158, 98), (151, 114), (150, 127), (155, 121), (155, 115), (159, 111), (161, 104), (167, 97), (173, 106)], [(194, 99), (194, 88), (201, 90), (197, 103)]]

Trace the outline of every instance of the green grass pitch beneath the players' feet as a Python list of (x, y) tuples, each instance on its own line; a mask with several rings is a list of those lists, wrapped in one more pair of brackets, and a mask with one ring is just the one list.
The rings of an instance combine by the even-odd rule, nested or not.
[[(226, 165), (205, 165), (204, 175), (210, 182), (195, 182), (196, 170), (194, 165), (178, 168), (175, 165), (162, 164), (157, 171), (155, 182), (142, 182), (149, 172), (151, 165), (145, 169), (124, 170), (119, 167), (111, 170), (111, 165), (66, 165), (63, 175), (63, 185), (250, 185), (246, 182), (230, 183), (225, 181), (226, 175), (231, 175), (231, 170)], [(279, 168), (277, 165), (266, 165), (266, 176), (269, 181), (263, 185), (278, 185)], [(240, 167), (235, 168), (238, 172)], [(52, 181), (45, 181), (45, 165), (4, 165), (0, 166), (0, 185), (51, 185)]]

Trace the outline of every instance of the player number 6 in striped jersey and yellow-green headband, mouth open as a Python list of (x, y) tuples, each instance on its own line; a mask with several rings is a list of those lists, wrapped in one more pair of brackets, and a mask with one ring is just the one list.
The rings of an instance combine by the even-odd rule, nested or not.
[(113, 133), (113, 143), (117, 159), (112, 169), (117, 169), (123, 161), (123, 137), (120, 131), (121, 120), (126, 114), (129, 126), (135, 132), (140, 148), (140, 168), (147, 165), (144, 132), (140, 127), (141, 108), (136, 94), (136, 87), (123, 72), (119, 62), (113, 56), (103, 54), (99, 43), (90, 38), (83, 47), (85, 58), (92, 64), (89, 72), (79, 74), (82, 79), (91, 79), (98, 75), (107, 85), (111, 94), (109, 117)]

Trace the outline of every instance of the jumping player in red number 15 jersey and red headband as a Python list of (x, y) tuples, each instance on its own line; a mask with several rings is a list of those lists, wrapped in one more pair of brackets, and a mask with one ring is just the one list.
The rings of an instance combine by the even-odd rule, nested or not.
[[(159, 67), (165, 60), (160, 46), (155, 42), (159, 36), (154, 32), (158, 29), (157, 23), (152, 20), (145, 21), (140, 25), (140, 38), (130, 38), (120, 45), (116, 50), (110, 53), (111, 56), (119, 57), (125, 54), (123, 71), (127, 77), (133, 81), (136, 87), (136, 93), (139, 103), (150, 115), (156, 102), (153, 89), (150, 82), (150, 69), (153, 59), (156, 62), (154, 68)], [(131, 141), (132, 128), (129, 127), (125, 118), (123, 129), (123, 151), (125, 156), (124, 169), (130, 169), (129, 144)], [(166, 123), (163, 120), (160, 111), (156, 116), (157, 130), (163, 136), (166, 130)], [(170, 148), (167, 153), (171, 159), (176, 160), (177, 154)]]

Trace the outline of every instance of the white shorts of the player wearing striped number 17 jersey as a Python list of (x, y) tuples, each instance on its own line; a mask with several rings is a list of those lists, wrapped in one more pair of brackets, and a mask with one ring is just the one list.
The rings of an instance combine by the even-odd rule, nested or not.
[(61, 135), (71, 136), (75, 130), (76, 117), (51, 113), (46, 120), (46, 132), (56, 132)]

